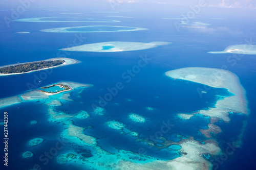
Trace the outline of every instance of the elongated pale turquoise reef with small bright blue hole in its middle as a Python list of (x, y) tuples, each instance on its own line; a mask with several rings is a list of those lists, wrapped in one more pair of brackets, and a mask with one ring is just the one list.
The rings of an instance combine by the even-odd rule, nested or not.
[[(125, 52), (125, 51), (138, 51), (148, 48), (154, 48), (159, 45), (168, 45), (170, 42), (153, 41), (153, 42), (99, 42), (92, 44), (84, 44), (73, 46), (69, 48), (62, 48), (61, 51), (75, 51), (75, 52)], [(108, 46), (105, 48), (105, 46)]]

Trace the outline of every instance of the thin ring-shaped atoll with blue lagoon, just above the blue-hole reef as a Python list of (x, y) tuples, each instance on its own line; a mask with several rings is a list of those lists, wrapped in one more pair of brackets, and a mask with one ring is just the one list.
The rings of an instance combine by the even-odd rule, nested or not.
[(124, 32), (124, 31), (141, 31), (146, 28), (121, 27), (121, 26), (82, 26), (82, 27), (63, 27), (40, 30), (48, 33), (104, 33), (104, 32)]

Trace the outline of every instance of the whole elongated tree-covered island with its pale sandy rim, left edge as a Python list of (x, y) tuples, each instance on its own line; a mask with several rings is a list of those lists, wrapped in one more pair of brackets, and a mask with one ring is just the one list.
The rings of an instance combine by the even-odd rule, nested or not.
[(79, 62), (80, 61), (71, 58), (52, 58), (42, 61), (5, 65), (0, 66), (0, 76), (26, 74), (32, 71), (40, 71), (54, 67), (61, 67), (65, 65), (76, 64)]

